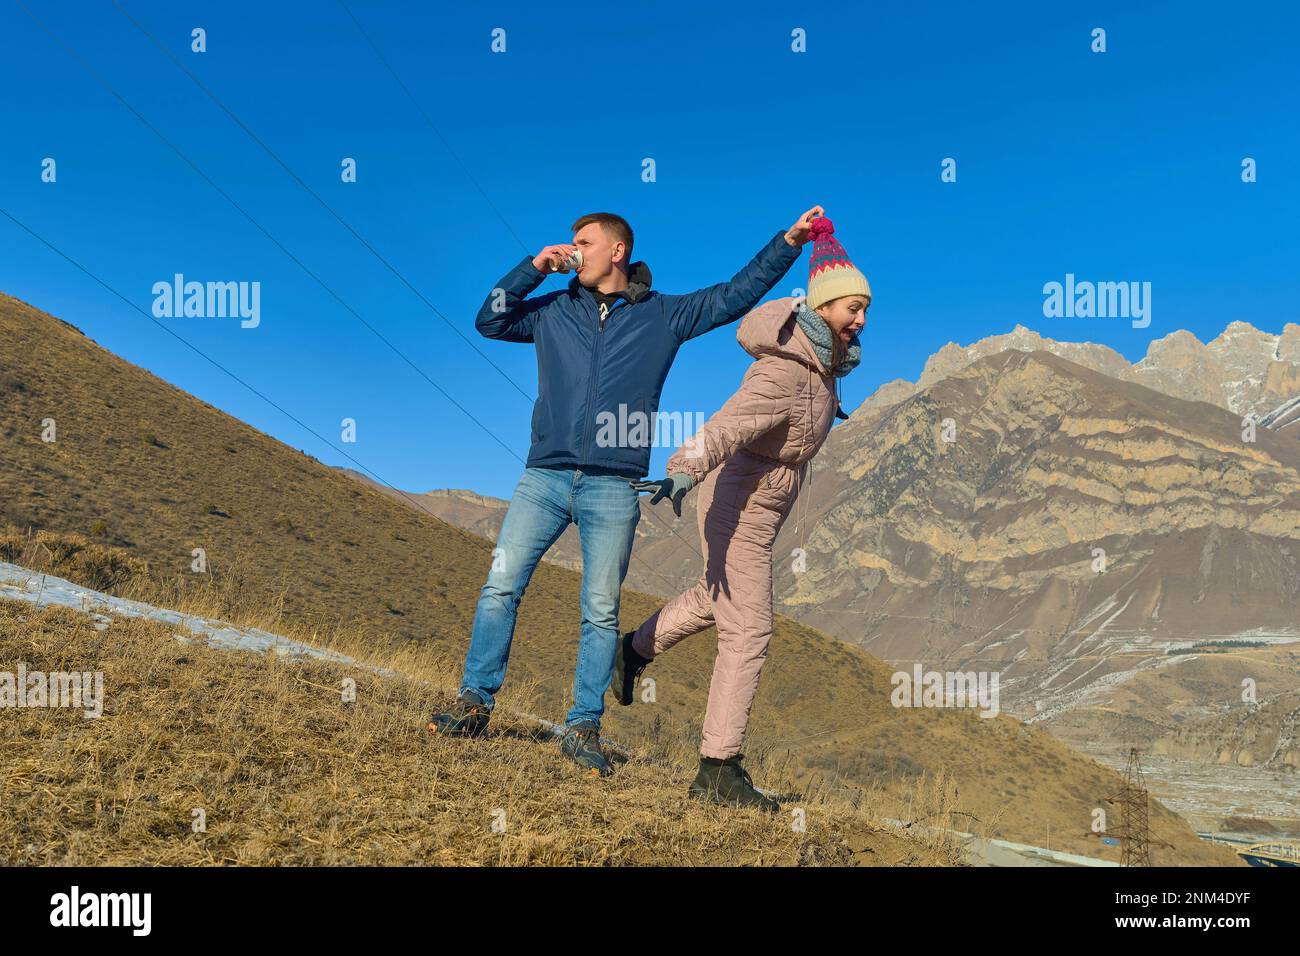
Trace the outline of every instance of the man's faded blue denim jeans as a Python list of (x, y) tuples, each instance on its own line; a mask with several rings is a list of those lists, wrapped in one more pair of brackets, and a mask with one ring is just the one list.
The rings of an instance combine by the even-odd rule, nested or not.
[(478, 592), (460, 692), (491, 708), (506, 679), (515, 614), (537, 562), (577, 524), (582, 541), (582, 627), (567, 726), (601, 723), (619, 640), (619, 596), (641, 507), (625, 476), (604, 468), (524, 468), (497, 536), (493, 567)]

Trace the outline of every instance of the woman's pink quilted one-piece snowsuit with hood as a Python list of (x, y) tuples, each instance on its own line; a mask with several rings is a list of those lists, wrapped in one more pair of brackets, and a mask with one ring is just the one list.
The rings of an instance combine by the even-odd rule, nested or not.
[(637, 628), (632, 646), (656, 657), (718, 626), (705, 757), (723, 760), (745, 744), (772, 637), (772, 548), (838, 407), (835, 380), (794, 315), (793, 299), (777, 299), (741, 320), (736, 338), (754, 363), (740, 390), (668, 459), (668, 473), (699, 485), (703, 574)]

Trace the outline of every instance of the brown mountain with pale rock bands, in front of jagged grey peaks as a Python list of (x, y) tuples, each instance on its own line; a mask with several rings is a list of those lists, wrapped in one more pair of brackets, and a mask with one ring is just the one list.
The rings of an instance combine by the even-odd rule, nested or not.
[(806, 538), (783, 535), (806, 570), (776, 585), (832, 633), (890, 659), (1037, 659), (1056, 688), (1119, 636), (1300, 636), (1300, 447), (1279, 434), (1017, 351), (854, 418)]

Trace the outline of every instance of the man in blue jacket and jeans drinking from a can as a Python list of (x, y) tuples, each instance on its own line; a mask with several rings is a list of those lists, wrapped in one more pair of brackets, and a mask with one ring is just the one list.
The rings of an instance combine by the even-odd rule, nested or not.
[[(650, 289), (650, 269), (632, 261), (632, 228), (608, 212), (582, 216), (573, 241), (524, 258), (488, 295), (474, 321), (488, 338), (537, 346), (538, 395), (532, 447), (506, 511), (493, 567), (478, 594), (456, 702), (429, 730), (477, 736), (506, 678), (515, 614), (537, 562), (569, 525), (582, 544), (581, 636), (573, 706), (560, 749), (593, 774), (608, 774), (599, 741), (604, 691), (620, 639), (619, 598), (641, 518), (638, 492), (651, 437), (623, 445), (598, 436), (602, 412), (654, 421), (668, 369), (684, 342), (736, 321), (772, 290), (807, 242), (822, 207), (774, 235), (729, 282), (689, 295)], [(546, 276), (581, 264), (568, 287), (529, 299)], [(620, 419), (621, 420), (621, 419)]]

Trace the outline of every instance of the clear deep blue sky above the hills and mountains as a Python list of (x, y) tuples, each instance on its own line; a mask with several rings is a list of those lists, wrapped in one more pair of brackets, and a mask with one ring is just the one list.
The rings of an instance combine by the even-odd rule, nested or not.
[[(376, 261), (112, 4), (25, 0), (165, 137), (524, 458), (530, 402)], [(1295, 4), (124, 7), (528, 394), (532, 346), (474, 312), (580, 213), (628, 217), (656, 287), (729, 277), (820, 203), (875, 300), (849, 407), (1008, 332), (1130, 359), (1174, 329), (1296, 321)], [(207, 30), (208, 52), (190, 52)], [(490, 49), (503, 27), (507, 52)], [(790, 31), (807, 31), (807, 52)], [(1108, 52), (1091, 52), (1104, 27)], [(144, 310), (153, 282), (260, 281), (261, 325), (170, 326), (406, 489), (508, 497), (521, 464), (390, 352), (99, 86), (0, 4), (0, 208)], [(459, 156), (448, 152), (447, 146)], [(40, 163), (57, 160), (55, 185)], [(342, 157), (359, 182), (339, 179)], [(653, 157), (658, 181), (641, 181)], [(956, 183), (940, 182), (944, 157)], [(1240, 181), (1245, 156), (1258, 182)], [(467, 177), (464, 168), (486, 194)], [(490, 200), (490, 203), (489, 203)], [(498, 216), (493, 207), (499, 209)], [(503, 221), (504, 220), (504, 221)], [(507, 226), (508, 224), (508, 226)], [(514, 234), (512, 234), (514, 233)], [(515, 238), (515, 234), (521, 238)], [(526, 247), (526, 248), (525, 248)], [(0, 217), (0, 289), (330, 464), (347, 460)], [(807, 252), (776, 294), (806, 284)], [(1043, 284), (1152, 282), (1152, 323), (1044, 319)], [(551, 278), (541, 291), (558, 287)], [(3, 347), (3, 343), (0, 343)], [(39, 356), (31, 356), (39, 360)], [(666, 410), (715, 410), (748, 356), (689, 343)], [(656, 450), (651, 471), (668, 449)]]

